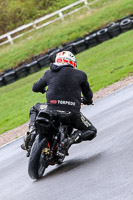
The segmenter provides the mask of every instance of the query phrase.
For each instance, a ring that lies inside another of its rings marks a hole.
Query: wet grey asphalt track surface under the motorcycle
[[[41,180],[28,176],[22,138],[0,149],[0,200],[133,199],[133,85],[82,112],[97,137],[73,145],[64,163],[48,167]]]

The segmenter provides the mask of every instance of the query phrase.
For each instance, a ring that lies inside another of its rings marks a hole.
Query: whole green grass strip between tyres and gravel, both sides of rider
[[[133,31],[123,33],[76,56],[78,68],[88,75],[93,92],[133,73]],[[32,85],[45,69],[0,88],[0,133],[29,119],[29,109],[44,102],[45,95],[32,92]]]

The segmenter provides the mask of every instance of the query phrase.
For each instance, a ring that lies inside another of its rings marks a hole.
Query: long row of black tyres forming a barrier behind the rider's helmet
[[[43,67],[47,67],[51,62],[55,61],[56,54],[60,51],[71,51],[73,54],[78,54],[132,29],[133,15],[130,15],[93,31],[84,37],[68,42],[60,48],[52,48],[41,56],[35,56],[33,58],[34,61],[29,64],[23,64],[16,69],[9,68],[2,72],[0,74],[0,87],[35,73]]]

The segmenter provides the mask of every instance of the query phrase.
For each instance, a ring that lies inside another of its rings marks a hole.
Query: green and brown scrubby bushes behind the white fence
[[[0,0],[0,35],[77,0]]]

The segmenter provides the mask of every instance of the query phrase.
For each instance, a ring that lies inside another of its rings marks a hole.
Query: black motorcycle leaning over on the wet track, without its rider
[[[85,104],[83,99],[81,102]],[[73,127],[63,125],[57,111],[45,109],[39,112],[35,126],[37,136],[30,152],[28,174],[32,179],[40,179],[49,165],[61,164],[65,159],[62,143],[70,137]]]

